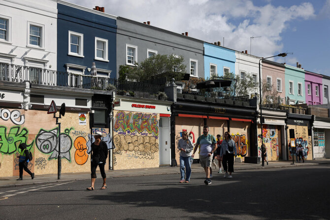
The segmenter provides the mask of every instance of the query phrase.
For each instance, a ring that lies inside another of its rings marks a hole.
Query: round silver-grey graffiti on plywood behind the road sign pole
[[[64,133],[61,133],[61,159],[66,158],[71,162],[70,150],[72,148],[72,139],[68,135],[70,129],[66,128]],[[57,159],[59,155],[59,128],[52,130],[40,129],[35,137],[35,146],[43,154],[51,154],[48,160]]]

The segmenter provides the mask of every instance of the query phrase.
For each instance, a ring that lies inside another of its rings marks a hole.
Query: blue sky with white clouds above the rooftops
[[[65,1],[330,76],[330,0]]]

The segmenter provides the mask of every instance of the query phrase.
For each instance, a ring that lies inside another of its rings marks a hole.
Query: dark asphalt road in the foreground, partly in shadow
[[[0,189],[2,220],[102,219],[330,219],[330,164],[242,170],[204,185],[194,173],[189,184],[178,175],[108,178],[105,190],[87,191],[90,181]]]

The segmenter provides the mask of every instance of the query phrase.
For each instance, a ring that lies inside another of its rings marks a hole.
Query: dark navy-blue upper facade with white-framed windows
[[[93,62],[98,78],[116,78],[115,16],[59,0],[57,27],[58,85],[90,82]]]

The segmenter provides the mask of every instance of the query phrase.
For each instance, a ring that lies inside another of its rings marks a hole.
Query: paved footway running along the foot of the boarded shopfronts
[[[256,169],[271,169],[271,168],[283,168],[283,167],[294,167],[294,166],[314,166],[314,165],[330,164],[330,159],[319,159],[319,160],[305,160],[304,163],[292,164],[292,161],[269,161],[269,164],[264,164],[264,167],[256,163],[244,163],[235,162],[234,170],[256,170]],[[214,172],[217,170],[213,169]],[[204,169],[199,163],[192,164],[192,173],[203,173]],[[179,166],[168,166],[162,165],[156,168],[142,168],[142,169],[126,169],[126,170],[108,170],[105,171],[107,179],[117,177],[132,177],[132,176],[148,176],[148,175],[162,175],[162,174],[179,174]],[[97,175],[100,178],[99,171]],[[0,177],[0,188],[8,187],[20,187],[27,185],[45,184],[45,183],[58,183],[66,181],[78,181],[78,180],[90,180],[91,173],[62,173],[60,180],[58,180],[58,174],[44,174],[35,175],[35,178],[31,180],[30,176],[23,176],[22,181],[16,181],[18,177]],[[180,179],[178,177],[178,179]]]

